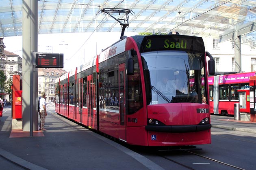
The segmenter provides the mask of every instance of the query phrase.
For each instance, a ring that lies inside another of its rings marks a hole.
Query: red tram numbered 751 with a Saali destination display
[[[122,38],[56,79],[55,111],[128,144],[209,144],[208,82],[202,79],[215,66],[209,56],[206,69],[206,55],[201,37]]]

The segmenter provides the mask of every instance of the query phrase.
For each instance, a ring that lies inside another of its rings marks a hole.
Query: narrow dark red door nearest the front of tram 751
[[[124,63],[119,65],[119,114],[120,114],[120,131],[119,138],[126,140],[126,114],[125,114],[125,70]]]

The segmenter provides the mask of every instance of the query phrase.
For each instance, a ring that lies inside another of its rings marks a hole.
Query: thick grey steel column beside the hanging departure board
[[[22,1],[22,130],[38,130],[38,72],[33,52],[38,45],[38,1]]]

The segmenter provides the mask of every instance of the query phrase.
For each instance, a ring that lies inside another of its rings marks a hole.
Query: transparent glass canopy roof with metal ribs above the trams
[[[120,32],[169,33],[230,40],[238,31],[244,42],[256,42],[256,0],[38,0],[38,33]],[[22,0],[1,0],[0,36],[22,35]],[[112,17],[111,17],[112,16]],[[121,20],[120,20],[121,19]],[[124,20],[122,20],[124,19]]]

